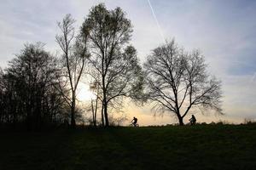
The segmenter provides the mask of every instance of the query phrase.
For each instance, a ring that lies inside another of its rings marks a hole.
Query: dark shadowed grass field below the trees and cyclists
[[[0,169],[255,169],[255,125],[0,133]]]

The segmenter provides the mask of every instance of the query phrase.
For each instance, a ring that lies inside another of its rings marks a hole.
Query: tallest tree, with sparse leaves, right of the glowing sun
[[[99,82],[102,113],[108,127],[108,107],[121,104],[123,97],[135,99],[141,78],[136,49],[127,45],[131,39],[131,21],[121,8],[108,10],[103,3],[90,9],[81,35],[89,37],[90,65]],[[141,76],[142,77],[142,76]]]

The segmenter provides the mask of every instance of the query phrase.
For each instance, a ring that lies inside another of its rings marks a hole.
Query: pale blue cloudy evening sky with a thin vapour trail
[[[187,50],[201,50],[208,71],[222,81],[225,115],[195,113],[199,122],[256,120],[253,0],[0,0],[0,66],[5,68],[24,43],[45,42],[51,53],[60,51],[55,42],[56,22],[72,14],[79,30],[90,8],[98,3],[125,10],[133,26],[131,43],[142,62],[152,49],[173,37]],[[142,125],[175,122],[168,114],[154,117],[149,105],[125,105],[128,116],[137,116]]]

